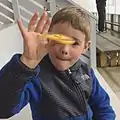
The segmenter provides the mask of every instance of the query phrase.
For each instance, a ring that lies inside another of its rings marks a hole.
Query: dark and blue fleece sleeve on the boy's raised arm
[[[0,70],[0,118],[9,118],[30,100],[30,89],[34,89],[30,81],[40,72],[39,66],[29,69],[16,54]],[[32,90],[34,91],[34,90]]]

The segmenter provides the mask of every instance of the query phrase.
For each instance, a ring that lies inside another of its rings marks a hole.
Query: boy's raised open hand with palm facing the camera
[[[24,40],[24,51],[21,56],[21,61],[29,68],[35,68],[42,58],[47,54],[47,40],[40,37],[40,33],[47,33],[50,27],[51,20],[48,18],[47,12],[44,11],[40,20],[38,13],[35,13],[26,29],[21,20],[18,20],[18,26]],[[36,25],[36,26],[35,26]]]

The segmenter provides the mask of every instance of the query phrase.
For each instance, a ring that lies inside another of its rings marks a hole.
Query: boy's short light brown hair
[[[68,22],[74,29],[78,29],[85,34],[86,41],[90,40],[91,23],[90,16],[85,10],[75,6],[67,6],[58,12],[52,18],[50,30],[57,23]]]

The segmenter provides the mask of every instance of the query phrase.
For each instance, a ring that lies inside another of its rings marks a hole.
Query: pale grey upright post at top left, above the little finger
[[[17,21],[20,18],[20,10],[18,5],[18,0],[12,0],[14,19]]]

